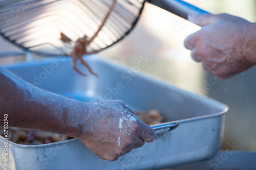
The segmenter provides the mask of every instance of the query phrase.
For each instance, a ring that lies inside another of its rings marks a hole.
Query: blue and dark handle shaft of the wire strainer
[[[184,19],[187,19],[189,15],[210,14],[181,0],[148,0],[148,2]]]

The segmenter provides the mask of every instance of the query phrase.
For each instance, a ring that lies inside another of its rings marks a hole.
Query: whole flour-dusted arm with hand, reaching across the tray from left
[[[34,87],[2,67],[0,81],[0,126],[8,114],[10,127],[78,138],[110,161],[154,140],[154,130],[122,101],[82,103]]]

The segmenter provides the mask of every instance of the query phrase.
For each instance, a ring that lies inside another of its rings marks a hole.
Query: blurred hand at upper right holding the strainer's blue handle
[[[230,78],[256,63],[256,27],[228,14],[201,14],[189,20],[202,27],[184,42],[191,57],[220,79]]]

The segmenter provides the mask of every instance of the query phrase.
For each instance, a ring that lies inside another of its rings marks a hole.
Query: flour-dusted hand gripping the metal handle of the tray
[[[155,138],[155,131],[122,101],[92,103],[87,117],[78,139],[104,160],[115,161]]]

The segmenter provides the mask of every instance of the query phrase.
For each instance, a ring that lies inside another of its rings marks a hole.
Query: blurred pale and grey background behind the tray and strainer
[[[256,21],[256,0],[186,0],[211,13],[229,13]],[[140,56],[152,60],[143,72],[169,81],[184,90],[208,96],[230,107],[225,120],[222,149],[235,143],[240,150],[256,151],[256,68],[229,80],[208,82],[213,75],[201,63],[190,58],[183,41],[200,27],[151,4],[146,4],[132,33],[116,45],[100,53],[102,57],[124,64],[137,65]],[[20,51],[0,38],[0,53]],[[0,59],[0,64],[24,60],[22,57]],[[207,90],[205,87],[207,86]]]

